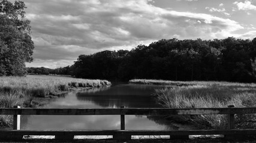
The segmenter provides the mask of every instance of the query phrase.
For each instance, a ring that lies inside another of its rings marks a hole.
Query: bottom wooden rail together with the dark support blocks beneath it
[[[0,130],[0,139],[22,139],[24,135],[53,135],[55,139],[74,139],[76,135],[112,135],[115,139],[131,139],[136,135],[168,135],[170,138],[189,135],[255,135],[256,129],[231,130]],[[184,138],[177,138],[184,139]]]

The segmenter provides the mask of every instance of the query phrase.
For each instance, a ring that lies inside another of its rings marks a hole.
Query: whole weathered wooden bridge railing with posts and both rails
[[[234,129],[234,114],[255,114],[256,107],[234,108],[0,108],[0,114],[13,115],[13,130],[0,130],[2,139],[21,139],[23,135],[55,135],[55,139],[73,139],[75,135],[113,135],[131,139],[132,135],[170,135],[188,139],[189,135],[225,135],[227,138],[256,135],[256,129]],[[227,114],[224,130],[125,130],[125,115],[197,115]],[[121,115],[121,130],[20,130],[20,115]]]

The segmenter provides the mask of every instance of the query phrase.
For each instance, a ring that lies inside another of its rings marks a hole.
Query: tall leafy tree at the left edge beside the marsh
[[[34,42],[24,2],[0,0],[0,76],[23,76],[33,60]]]

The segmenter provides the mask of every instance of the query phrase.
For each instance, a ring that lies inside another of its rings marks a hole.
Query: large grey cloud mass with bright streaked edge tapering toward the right
[[[167,10],[147,0],[24,1],[35,42],[34,63],[52,60],[68,66],[80,54],[131,49],[163,38],[226,38],[243,29],[228,18]]]

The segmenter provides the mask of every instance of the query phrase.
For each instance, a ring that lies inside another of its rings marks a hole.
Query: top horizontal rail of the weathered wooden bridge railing
[[[9,115],[186,115],[255,114],[251,108],[0,108]]]

